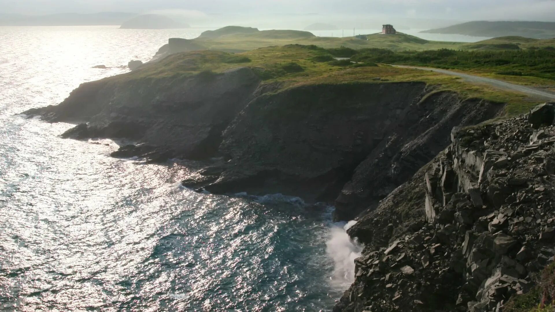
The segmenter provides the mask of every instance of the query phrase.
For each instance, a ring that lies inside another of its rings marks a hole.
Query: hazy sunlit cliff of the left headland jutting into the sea
[[[209,158],[221,133],[249,103],[260,79],[249,68],[176,79],[102,79],[84,83],[57,106],[32,109],[50,122],[82,123],[74,138],[122,138],[166,150],[167,157]],[[85,124],[83,124],[85,123]],[[136,155],[143,155],[137,149]],[[129,153],[128,153],[129,154]]]

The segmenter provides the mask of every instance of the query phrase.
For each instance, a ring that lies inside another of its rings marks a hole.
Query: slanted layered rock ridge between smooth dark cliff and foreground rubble
[[[450,143],[447,134],[453,127],[483,122],[501,108],[478,99],[461,100],[452,92],[428,94],[403,107],[397,118],[380,125],[385,130],[376,133],[380,143],[342,189],[336,200],[339,219],[354,219],[361,211],[375,208]]]

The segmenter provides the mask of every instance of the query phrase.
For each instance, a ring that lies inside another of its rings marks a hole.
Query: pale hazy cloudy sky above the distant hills
[[[203,14],[316,13],[456,20],[555,21],[555,0],[0,0],[0,13],[147,13],[186,10]]]

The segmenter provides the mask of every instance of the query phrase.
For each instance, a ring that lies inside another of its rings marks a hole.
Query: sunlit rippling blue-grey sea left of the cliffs
[[[328,311],[349,287],[332,207],[195,193],[186,162],[19,115],[204,30],[0,27],[0,311]]]

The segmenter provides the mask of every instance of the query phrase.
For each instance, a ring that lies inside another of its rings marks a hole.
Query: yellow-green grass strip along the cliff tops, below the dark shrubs
[[[422,81],[428,85],[435,85],[437,90],[458,92],[464,98],[483,98],[508,103],[509,115],[526,112],[533,105],[542,102],[516,92],[468,84],[453,76],[417,69],[377,66],[371,62],[353,64],[349,61],[331,61],[332,59],[332,54],[327,49],[300,45],[265,47],[237,54],[221,51],[183,52],[158,63],[148,64],[132,73],[107,79],[156,79],[199,73],[210,76],[231,68],[246,66],[253,68],[265,83],[281,83],[281,89],[321,83]]]

